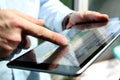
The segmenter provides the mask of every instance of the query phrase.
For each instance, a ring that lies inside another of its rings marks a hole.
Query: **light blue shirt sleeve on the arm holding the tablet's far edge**
[[[40,7],[39,19],[44,19],[45,25],[49,29],[55,32],[61,32],[64,17],[72,12],[71,9],[59,0],[45,0]]]

